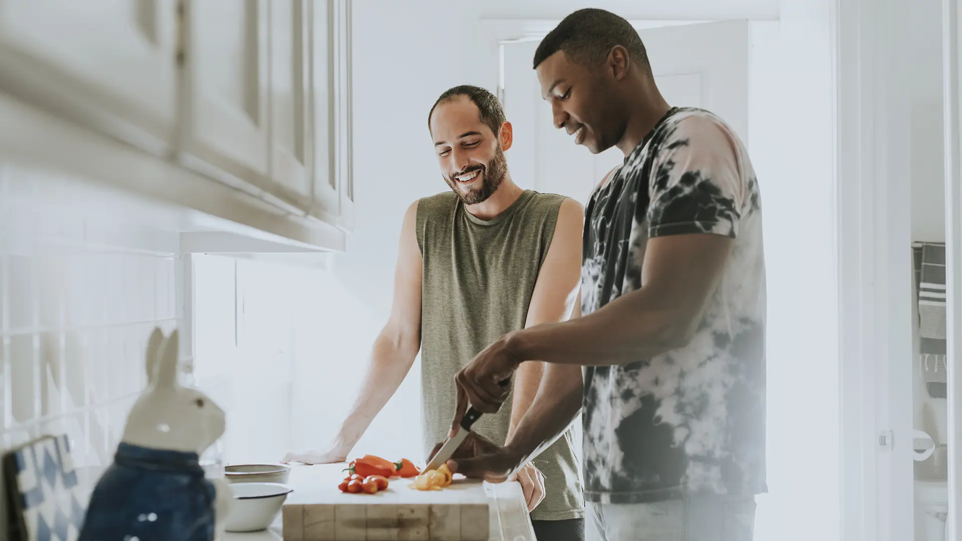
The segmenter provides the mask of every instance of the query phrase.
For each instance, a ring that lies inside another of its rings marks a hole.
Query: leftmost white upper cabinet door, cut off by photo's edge
[[[176,15],[175,0],[0,0],[0,90],[164,152]]]

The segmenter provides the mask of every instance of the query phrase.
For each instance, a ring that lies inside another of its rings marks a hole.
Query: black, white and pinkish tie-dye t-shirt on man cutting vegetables
[[[745,146],[718,116],[671,109],[595,189],[585,213],[585,315],[642,287],[647,239],[734,240],[687,346],[586,369],[585,499],[766,492],[765,260]]]

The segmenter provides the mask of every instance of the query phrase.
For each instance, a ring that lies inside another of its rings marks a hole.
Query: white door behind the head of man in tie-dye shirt
[[[655,82],[672,106],[701,107],[748,141],[748,22],[724,21],[639,30]],[[585,203],[595,184],[624,156],[617,147],[593,155],[554,127],[531,68],[538,41],[504,45],[503,100],[515,128],[505,153],[522,188],[560,193]]]

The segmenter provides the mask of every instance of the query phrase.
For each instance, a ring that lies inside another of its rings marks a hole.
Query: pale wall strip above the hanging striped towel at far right
[[[912,42],[912,240],[945,242],[942,134],[942,2],[915,0]]]

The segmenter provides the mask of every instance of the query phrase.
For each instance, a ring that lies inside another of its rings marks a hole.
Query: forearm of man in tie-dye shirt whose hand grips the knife
[[[653,304],[642,289],[621,296],[590,316],[512,333],[507,337],[508,348],[521,360],[612,366],[680,347],[688,329],[675,323],[671,307]]]

